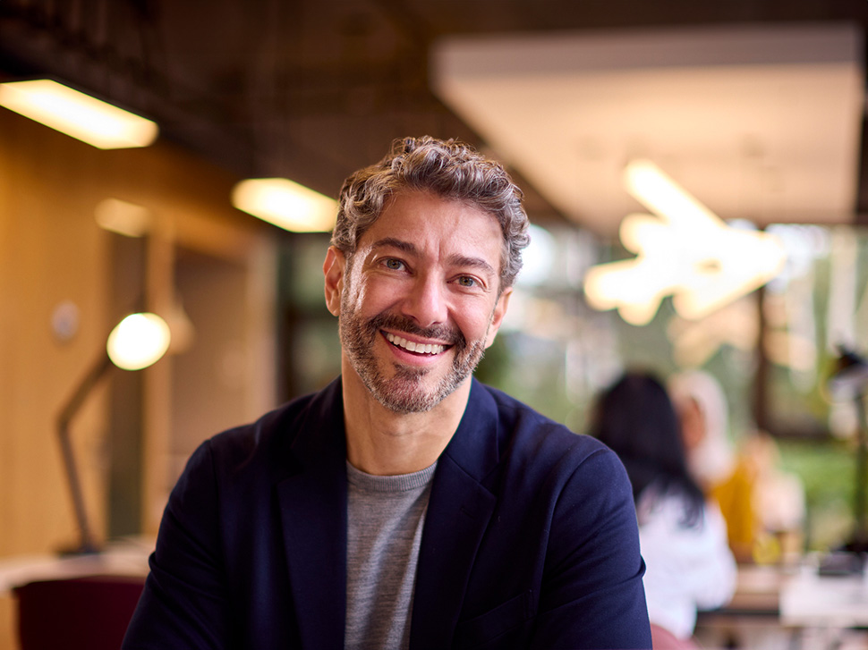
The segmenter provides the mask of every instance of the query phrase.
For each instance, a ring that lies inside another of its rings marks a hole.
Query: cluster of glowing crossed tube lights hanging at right
[[[621,242],[636,257],[585,274],[592,308],[617,308],[628,323],[645,325],[671,295],[681,317],[697,320],[783,268],[786,256],[776,237],[726,224],[650,161],[627,165],[624,180],[654,215],[627,215],[621,222]]]

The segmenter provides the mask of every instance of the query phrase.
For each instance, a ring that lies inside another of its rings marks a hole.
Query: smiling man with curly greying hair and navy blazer
[[[323,265],[342,374],[193,454],[124,648],[651,647],[623,467],[472,378],[521,201],[428,137],[345,181]]]

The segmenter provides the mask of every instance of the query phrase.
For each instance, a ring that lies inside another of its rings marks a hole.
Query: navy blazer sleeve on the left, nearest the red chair
[[[193,453],[169,497],[123,650],[229,646],[217,483],[209,445],[203,443]]]

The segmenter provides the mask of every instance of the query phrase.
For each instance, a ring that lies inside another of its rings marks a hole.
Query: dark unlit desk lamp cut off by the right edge
[[[868,487],[868,424],[865,420],[865,393],[868,391],[868,361],[844,346],[838,346],[838,363],[829,378],[829,391],[838,399],[854,401],[858,414],[856,432],[855,531],[847,551],[868,552],[868,521],[865,519],[865,490]]]

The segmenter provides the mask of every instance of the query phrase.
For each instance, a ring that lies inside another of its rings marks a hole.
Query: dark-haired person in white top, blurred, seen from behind
[[[625,373],[599,396],[591,428],[633,485],[654,648],[694,647],[696,612],[732,598],[736,561],[718,507],[687,469],[666,388],[652,374]]]

